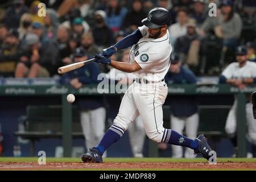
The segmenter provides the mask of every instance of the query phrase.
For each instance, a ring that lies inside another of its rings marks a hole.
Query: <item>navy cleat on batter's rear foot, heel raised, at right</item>
[[[196,138],[197,142],[199,143],[199,147],[194,150],[195,154],[200,154],[203,156],[203,158],[209,160],[210,156],[209,152],[212,151],[212,148],[207,143],[207,139],[204,137],[204,135],[199,135],[199,137]]]

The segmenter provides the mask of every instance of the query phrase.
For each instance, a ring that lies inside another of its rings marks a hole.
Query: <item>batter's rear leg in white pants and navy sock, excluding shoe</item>
[[[192,149],[198,147],[196,140],[189,139],[177,133],[175,130],[164,129],[162,105],[168,93],[166,84],[141,84],[136,89],[137,93],[140,92],[141,94],[135,93],[134,100],[141,114],[148,138],[157,143],[166,142]]]

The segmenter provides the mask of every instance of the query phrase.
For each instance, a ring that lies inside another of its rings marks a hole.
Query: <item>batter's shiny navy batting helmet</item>
[[[148,13],[147,18],[143,19],[142,23],[144,26],[154,29],[168,24],[170,20],[171,13],[168,10],[163,7],[156,7]]]

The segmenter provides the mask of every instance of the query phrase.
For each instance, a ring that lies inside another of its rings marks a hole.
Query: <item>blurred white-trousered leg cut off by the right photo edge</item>
[[[247,127],[248,127],[248,133],[247,133],[247,139],[251,143],[251,152],[253,154],[253,157],[256,156],[256,122],[253,118],[253,104],[247,103],[246,104],[246,120],[247,120]]]

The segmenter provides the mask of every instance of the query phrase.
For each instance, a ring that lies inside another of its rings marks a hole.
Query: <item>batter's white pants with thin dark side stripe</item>
[[[164,81],[152,84],[134,82],[127,89],[114,124],[127,130],[139,115],[148,138],[161,142],[164,134],[162,105],[168,93]]]

